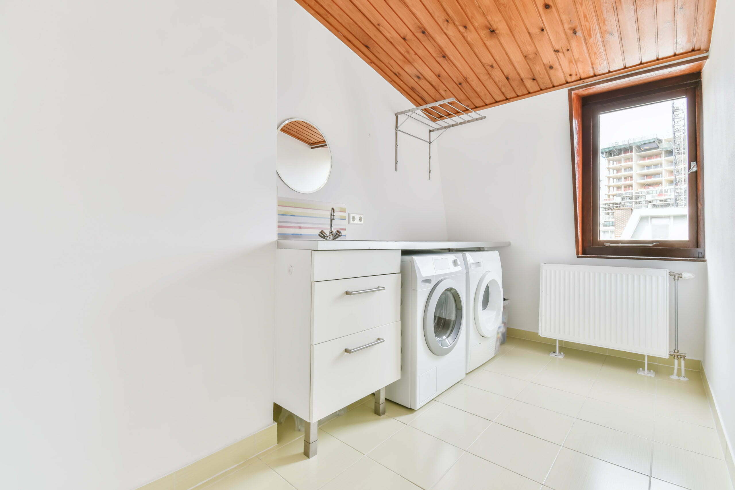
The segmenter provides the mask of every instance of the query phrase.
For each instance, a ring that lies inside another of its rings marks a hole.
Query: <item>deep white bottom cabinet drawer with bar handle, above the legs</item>
[[[354,353],[362,345],[383,342]],[[401,322],[312,345],[312,421],[401,378]]]

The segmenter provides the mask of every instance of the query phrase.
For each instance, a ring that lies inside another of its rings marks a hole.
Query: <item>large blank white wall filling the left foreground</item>
[[[276,5],[2,10],[2,486],[133,489],[270,424]]]

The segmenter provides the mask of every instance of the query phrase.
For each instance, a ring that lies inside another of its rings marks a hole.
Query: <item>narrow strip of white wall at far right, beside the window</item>
[[[735,3],[717,2],[703,71],[704,185],[709,266],[705,372],[735,442]]]

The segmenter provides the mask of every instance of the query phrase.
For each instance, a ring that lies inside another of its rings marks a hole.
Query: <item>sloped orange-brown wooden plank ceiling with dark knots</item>
[[[417,106],[484,109],[696,56],[715,0],[296,0]]]

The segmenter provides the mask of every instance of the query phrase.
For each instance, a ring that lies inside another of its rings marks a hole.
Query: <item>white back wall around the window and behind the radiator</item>
[[[679,340],[689,357],[702,359],[706,264],[576,258],[568,105],[567,91],[557,90],[486,109],[487,119],[442,136],[449,239],[512,242],[501,249],[509,325],[531,331],[538,329],[542,262],[695,273],[679,288]]]

